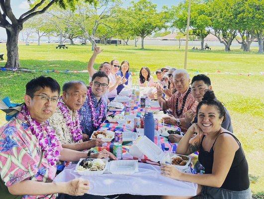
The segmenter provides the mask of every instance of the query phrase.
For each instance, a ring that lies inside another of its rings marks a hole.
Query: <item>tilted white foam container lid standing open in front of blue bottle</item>
[[[158,162],[163,157],[162,149],[152,142],[147,136],[143,136],[138,142],[133,144],[129,150],[129,153],[138,158],[142,158],[146,155],[151,161]]]

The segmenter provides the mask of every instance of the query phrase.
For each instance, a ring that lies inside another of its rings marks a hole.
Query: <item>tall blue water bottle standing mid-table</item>
[[[154,142],[155,123],[153,112],[146,112],[144,117],[144,135]]]

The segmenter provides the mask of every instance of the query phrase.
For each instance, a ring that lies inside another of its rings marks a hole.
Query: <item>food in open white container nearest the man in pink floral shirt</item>
[[[78,171],[102,171],[105,167],[105,163],[102,159],[86,158],[81,161]]]

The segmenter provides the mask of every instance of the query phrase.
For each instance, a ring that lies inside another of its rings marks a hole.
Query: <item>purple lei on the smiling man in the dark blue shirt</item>
[[[96,110],[92,104],[92,100],[91,100],[91,88],[88,87],[88,91],[87,91],[87,97],[88,97],[88,104],[91,108],[91,119],[92,119],[92,125],[97,128],[100,126],[100,124],[102,123],[102,118],[103,118],[103,115],[104,115],[104,108],[105,108],[105,105],[104,103],[101,103],[100,105],[100,111],[99,111],[99,114],[96,113]]]

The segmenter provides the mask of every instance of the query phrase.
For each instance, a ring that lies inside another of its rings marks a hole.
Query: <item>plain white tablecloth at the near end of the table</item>
[[[97,196],[131,194],[158,196],[195,196],[197,184],[176,181],[160,174],[160,167],[139,163],[139,172],[131,176],[103,174],[100,176],[81,176],[74,172],[75,165],[66,167],[54,182],[68,182],[75,178],[90,182],[89,194]]]

